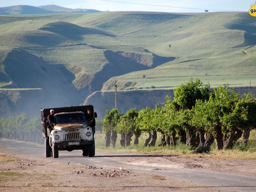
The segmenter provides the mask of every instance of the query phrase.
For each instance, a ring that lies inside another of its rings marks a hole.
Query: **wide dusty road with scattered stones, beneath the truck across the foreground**
[[[19,158],[0,162],[0,191],[256,192],[256,160],[97,150],[93,158],[76,150],[53,159],[44,157],[43,145],[9,140],[0,140],[0,153]],[[16,175],[3,175],[8,172]]]

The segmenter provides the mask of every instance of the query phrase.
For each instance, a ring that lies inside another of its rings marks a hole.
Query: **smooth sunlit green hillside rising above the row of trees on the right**
[[[111,84],[116,80],[121,90],[150,87],[169,89],[191,77],[200,77],[204,83],[212,86],[223,83],[233,87],[248,86],[250,81],[253,86],[256,85],[256,65],[253,63],[256,59],[256,25],[252,17],[246,13],[193,14],[183,17],[186,17],[187,25],[181,25],[184,18],[180,18],[177,21],[174,19],[172,26],[168,23],[165,23],[165,27],[159,24],[161,32],[150,28],[124,35],[124,38],[129,39],[131,35],[143,33],[146,36],[150,33],[154,38],[147,41],[139,39],[134,41],[134,45],[143,46],[154,53],[172,55],[175,60],[147,71],[114,77],[104,84],[102,90],[113,89]],[[133,86],[127,86],[127,82]]]

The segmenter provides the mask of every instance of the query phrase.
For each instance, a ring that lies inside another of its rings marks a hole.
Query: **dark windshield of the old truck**
[[[63,114],[63,115],[55,116],[55,122],[56,122],[56,124],[78,123],[78,122],[85,122],[85,118],[82,113]]]

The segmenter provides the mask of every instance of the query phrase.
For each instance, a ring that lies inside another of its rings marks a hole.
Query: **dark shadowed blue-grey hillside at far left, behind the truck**
[[[41,107],[82,103],[82,94],[72,84],[74,77],[64,67],[52,67],[41,58],[19,49],[6,50],[6,55],[0,60],[3,60],[1,117],[22,111],[37,116]]]

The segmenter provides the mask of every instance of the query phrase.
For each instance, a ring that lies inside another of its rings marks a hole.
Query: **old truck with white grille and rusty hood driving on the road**
[[[54,125],[47,121],[51,109],[55,110]],[[82,156],[94,157],[95,128],[88,123],[90,119],[87,117],[87,109],[91,109],[93,118],[97,117],[92,105],[41,108],[42,135],[45,138],[46,158],[58,158],[60,150],[82,150]]]

